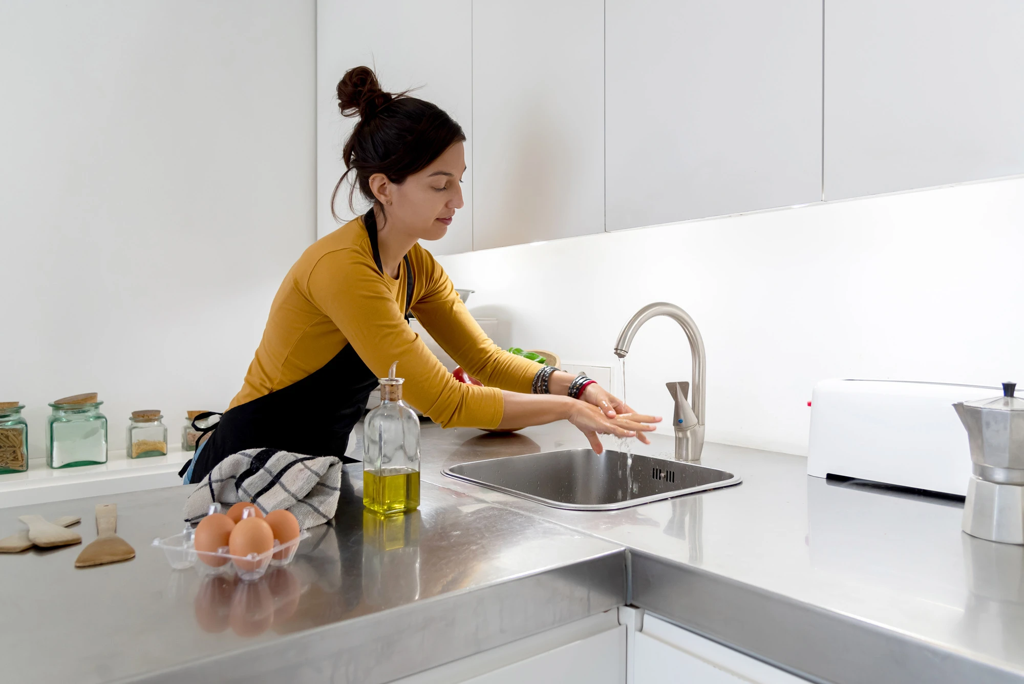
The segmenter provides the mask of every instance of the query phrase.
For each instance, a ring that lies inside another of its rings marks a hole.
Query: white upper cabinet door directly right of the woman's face
[[[474,0],[473,248],[604,229],[602,0]]]

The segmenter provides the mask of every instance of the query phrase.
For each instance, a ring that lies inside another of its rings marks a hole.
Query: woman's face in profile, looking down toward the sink
[[[384,201],[387,223],[394,221],[395,226],[409,230],[418,240],[443,238],[455,211],[464,204],[461,183],[465,171],[465,149],[461,142],[456,142],[400,185],[386,181],[380,183],[379,191],[374,187],[378,199]],[[391,204],[387,204],[387,200]]]

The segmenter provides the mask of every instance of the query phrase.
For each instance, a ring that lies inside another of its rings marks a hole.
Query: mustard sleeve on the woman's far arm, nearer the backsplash
[[[528,394],[542,367],[495,344],[470,315],[441,265],[426,250],[422,254],[425,291],[413,306],[416,319],[466,373],[484,385]]]

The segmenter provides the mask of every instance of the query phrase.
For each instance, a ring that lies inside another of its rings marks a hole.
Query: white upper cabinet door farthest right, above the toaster
[[[825,0],[825,199],[1024,173],[1024,2]]]

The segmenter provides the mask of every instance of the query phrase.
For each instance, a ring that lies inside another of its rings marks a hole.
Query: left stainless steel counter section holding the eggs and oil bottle
[[[116,503],[136,557],[76,569],[81,545],[0,554],[0,679],[387,682],[626,600],[621,545],[429,482],[419,511],[365,519],[358,467],[287,570],[203,580],[150,546],[181,530],[191,488],[4,511],[0,537],[26,513],[79,515],[88,544],[94,505]]]

